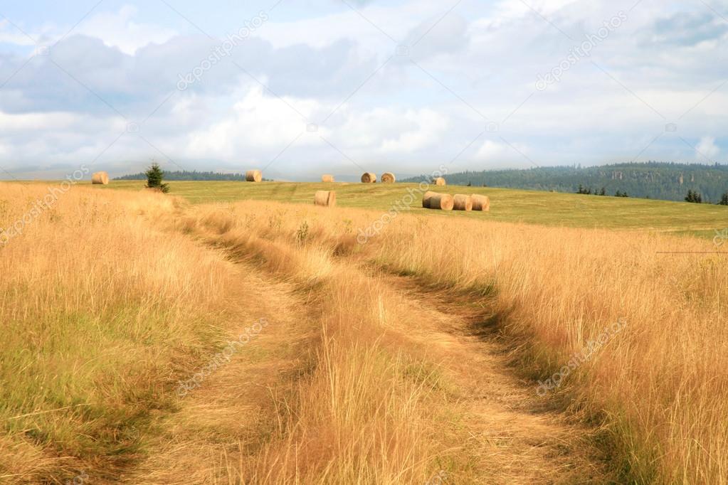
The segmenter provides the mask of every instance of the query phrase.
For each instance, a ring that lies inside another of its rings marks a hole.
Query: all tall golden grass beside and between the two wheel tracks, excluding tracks
[[[1,188],[3,226],[42,190]],[[274,394],[272,433],[223,467],[231,481],[422,483],[443,460],[477,478],[457,446],[467,430],[451,434],[453,396],[437,372],[412,371],[433,364],[402,335],[416,317],[365,277],[373,264],[493,305],[536,379],[624,318],[545,399],[601,427],[625,479],[727,483],[728,262],[697,254],[708,241],[399,215],[357,244],[379,217],[66,194],[0,249],[0,479],[52,481],[90,463],[111,475],[141,452],[131,428],[178,405],[175,357],[194,360],[215,340],[240,278],[191,235],[293,282],[309,294],[301,312],[320,322],[309,367]],[[677,250],[696,254],[657,254]]]

